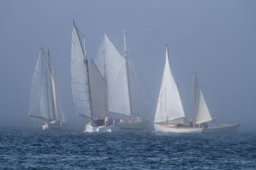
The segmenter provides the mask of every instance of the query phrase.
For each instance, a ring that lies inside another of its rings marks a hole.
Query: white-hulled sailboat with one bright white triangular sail
[[[201,133],[202,128],[186,127],[179,89],[173,78],[168,59],[168,45],[166,46],[166,61],[163,79],[159,93],[154,127],[156,132],[171,133]]]

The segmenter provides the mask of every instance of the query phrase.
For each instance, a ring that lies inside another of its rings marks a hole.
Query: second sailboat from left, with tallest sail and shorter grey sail
[[[83,36],[84,40],[84,36]],[[89,77],[88,58],[86,56],[76,24],[73,20],[71,47],[71,82],[77,114],[89,121],[84,132],[117,132],[119,127],[109,125],[106,107],[106,81],[92,61]],[[94,83],[94,84],[93,84]],[[95,85],[94,91],[91,86]],[[97,120],[95,120],[97,119]],[[105,120],[104,120],[105,119]]]

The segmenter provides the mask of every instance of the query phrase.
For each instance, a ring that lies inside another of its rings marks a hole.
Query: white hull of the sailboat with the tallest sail
[[[85,126],[84,132],[89,132],[89,133],[97,133],[97,132],[118,132],[120,128],[115,125],[109,125],[107,126],[99,126],[99,127],[94,127],[92,126],[92,123],[88,123]]]

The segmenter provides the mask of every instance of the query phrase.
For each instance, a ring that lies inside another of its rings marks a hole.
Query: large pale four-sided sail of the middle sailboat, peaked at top
[[[108,108],[109,112],[131,115],[126,59],[105,34],[94,61],[104,75],[104,57],[108,66]]]

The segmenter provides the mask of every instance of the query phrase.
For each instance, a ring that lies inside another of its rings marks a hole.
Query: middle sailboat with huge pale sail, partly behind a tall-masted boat
[[[125,40],[125,35],[124,35]],[[125,42],[125,41],[124,41]],[[104,49],[104,52],[103,50]],[[103,54],[104,53],[104,54]],[[131,86],[129,79],[129,63],[127,61],[127,51],[122,54],[115,47],[108,35],[104,35],[99,52],[95,57],[95,64],[102,75],[104,75],[104,63],[108,65],[106,75],[108,75],[108,108],[112,115],[121,116],[116,120],[120,128],[147,129],[149,119],[140,117],[140,113],[132,112]]]

